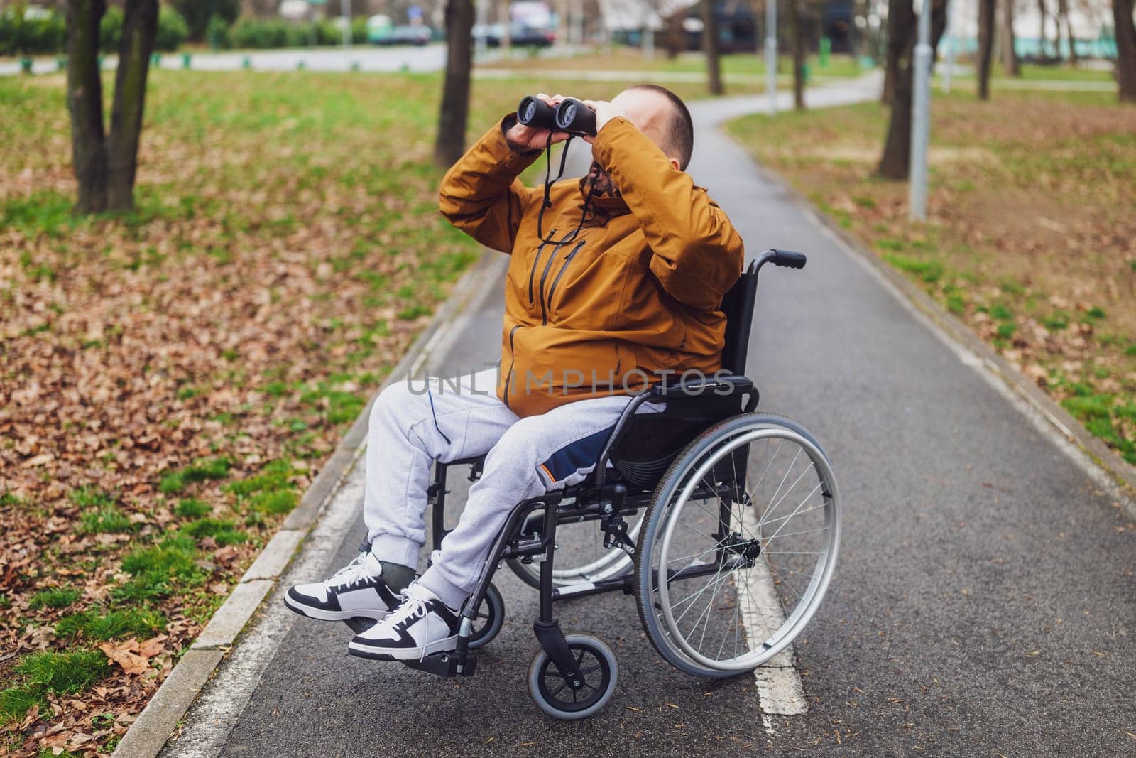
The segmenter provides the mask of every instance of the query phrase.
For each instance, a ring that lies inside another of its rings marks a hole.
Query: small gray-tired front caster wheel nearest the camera
[[[611,700],[619,666],[611,648],[588,634],[567,634],[565,640],[584,682],[573,689],[542,648],[528,667],[528,694],[553,718],[587,718]]]

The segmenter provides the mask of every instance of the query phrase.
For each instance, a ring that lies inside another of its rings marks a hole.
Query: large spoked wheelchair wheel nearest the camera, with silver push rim
[[[743,414],[696,438],[659,482],[635,561],[640,618],[670,664],[734,676],[785,650],[836,566],[840,493],[816,440]]]

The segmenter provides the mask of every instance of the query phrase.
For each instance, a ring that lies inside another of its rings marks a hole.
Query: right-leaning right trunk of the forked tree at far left
[[[157,31],[158,0],[126,0],[107,145],[107,210],[130,210],[134,207],[145,81]]]

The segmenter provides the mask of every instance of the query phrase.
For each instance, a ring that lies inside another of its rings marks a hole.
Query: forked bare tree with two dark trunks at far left
[[[124,5],[109,135],[103,128],[99,75],[99,23],[106,9],[103,0],[67,2],[67,109],[72,122],[72,159],[78,182],[76,215],[134,207],[145,83],[158,28],[158,0],[126,0]]]

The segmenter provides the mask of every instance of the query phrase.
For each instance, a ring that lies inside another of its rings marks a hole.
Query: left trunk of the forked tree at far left
[[[67,2],[67,109],[72,122],[72,161],[78,181],[75,214],[107,207],[107,148],[99,77],[99,22],[103,0]]]

